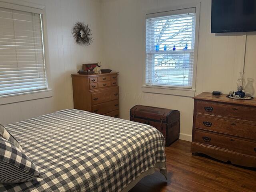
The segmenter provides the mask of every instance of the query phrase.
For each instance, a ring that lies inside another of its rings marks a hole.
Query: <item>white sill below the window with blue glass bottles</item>
[[[194,89],[187,89],[187,88],[161,87],[161,86],[148,86],[148,85],[142,86],[142,92],[175,95],[175,96],[182,96],[182,97],[194,97],[195,91],[196,90]]]

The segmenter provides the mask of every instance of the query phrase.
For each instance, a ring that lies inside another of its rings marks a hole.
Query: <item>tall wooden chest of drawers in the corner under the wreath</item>
[[[119,118],[118,73],[72,74],[74,108]]]

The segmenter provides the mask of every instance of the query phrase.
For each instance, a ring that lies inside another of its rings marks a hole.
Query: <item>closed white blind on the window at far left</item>
[[[46,88],[41,14],[0,8],[0,95]]]

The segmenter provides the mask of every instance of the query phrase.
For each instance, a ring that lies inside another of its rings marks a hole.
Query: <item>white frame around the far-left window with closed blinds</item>
[[[43,90],[30,90],[28,92],[2,95],[0,96],[0,105],[52,97],[45,6],[30,2],[22,2],[19,0],[0,0],[0,7],[41,14],[44,46],[44,65],[47,83],[47,88]]]

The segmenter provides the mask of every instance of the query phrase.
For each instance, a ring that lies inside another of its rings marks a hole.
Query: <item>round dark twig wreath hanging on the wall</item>
[[[73,27],[73,37],[80,46],[92,44],[92,30],[88,24],[76,22]]]

